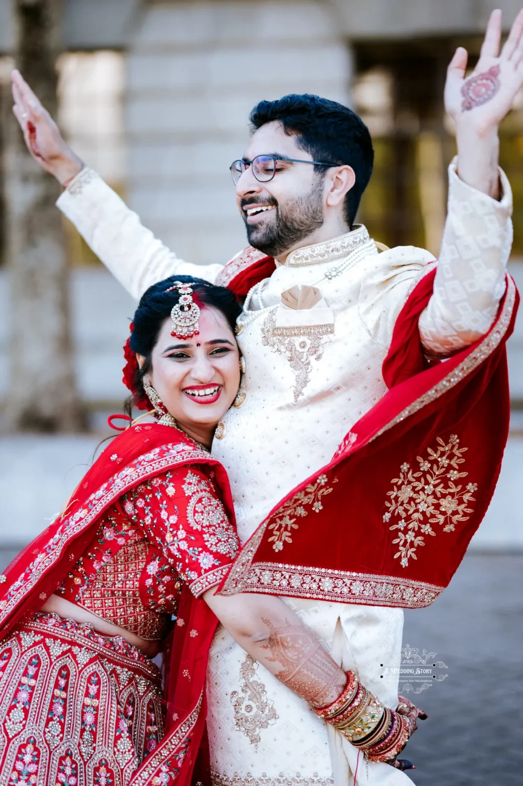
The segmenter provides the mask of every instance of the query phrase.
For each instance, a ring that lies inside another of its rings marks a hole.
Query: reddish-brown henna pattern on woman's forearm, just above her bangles
[[[267,660],[283,667],[274,676],[313,707],[325,707],[335,700],[347,678],[315,634],[286,619],[281,628],[274,628],[268,619],[263,622],[270,630],[267,645],[263,645],[271,652]]]

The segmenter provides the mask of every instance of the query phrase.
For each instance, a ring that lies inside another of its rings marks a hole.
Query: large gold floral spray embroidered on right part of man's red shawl
[[[447,444],[440,437],[437,443],[436,451],[427,449],[428,458],[416,457],[419,472],[413,472],[407,462],[402,464],[400,477],[391,480],[394,488],[387,492],[391,501],[385,502],[389,510],[384,513],[383,520],[386,523],[391,516],[400,518],[399,523],[392,524],[389,529],[398,530],[399,537],[392,543],[399,544],[400,550],[394,559],[401,557],[402,567],[407,567],[411,557],[418,559],[416,549],[425,545],[424,535],[436,536],[431,524],[445,524],[444,532],[454,532],[456,523],[470,519],[463,514],[474,512],[467,505],[475,501],[472,495],[477,490],[477,483],[467,483],[465,488],[462,483],[455,483],[469,474],[459,472],[459,465],[465,462],[462,454],[468,448],[459,447],[455,434],[450,435]],[[418,534],[418,529],[423,534]]]

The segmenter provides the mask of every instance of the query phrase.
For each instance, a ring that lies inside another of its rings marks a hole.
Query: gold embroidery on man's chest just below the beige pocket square
[[[297,402],[311,379],[311,358],[322,358],[322,338],[334,332],[334,325],[276,327],[275,323],[276,312],[272,310],[262,325],[262,344],[287,356],[296,376],[294,401]]]

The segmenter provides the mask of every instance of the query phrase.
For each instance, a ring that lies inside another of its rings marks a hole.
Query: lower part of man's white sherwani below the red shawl
[[[344,670],[396,707],[403,611],[284,598]],[[208,665],[213,786],[406,786],[405,773],[366,762],[220,626]],[[354,780],[354,776],[357,774]]]

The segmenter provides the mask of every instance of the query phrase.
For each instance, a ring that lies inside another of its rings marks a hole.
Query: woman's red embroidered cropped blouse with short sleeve
[[[204,473],[169,470],[123,494],[101,516],[57,594],[142,639],[163,639],[182,583],[195,596],[215,586],[238,546]]]

